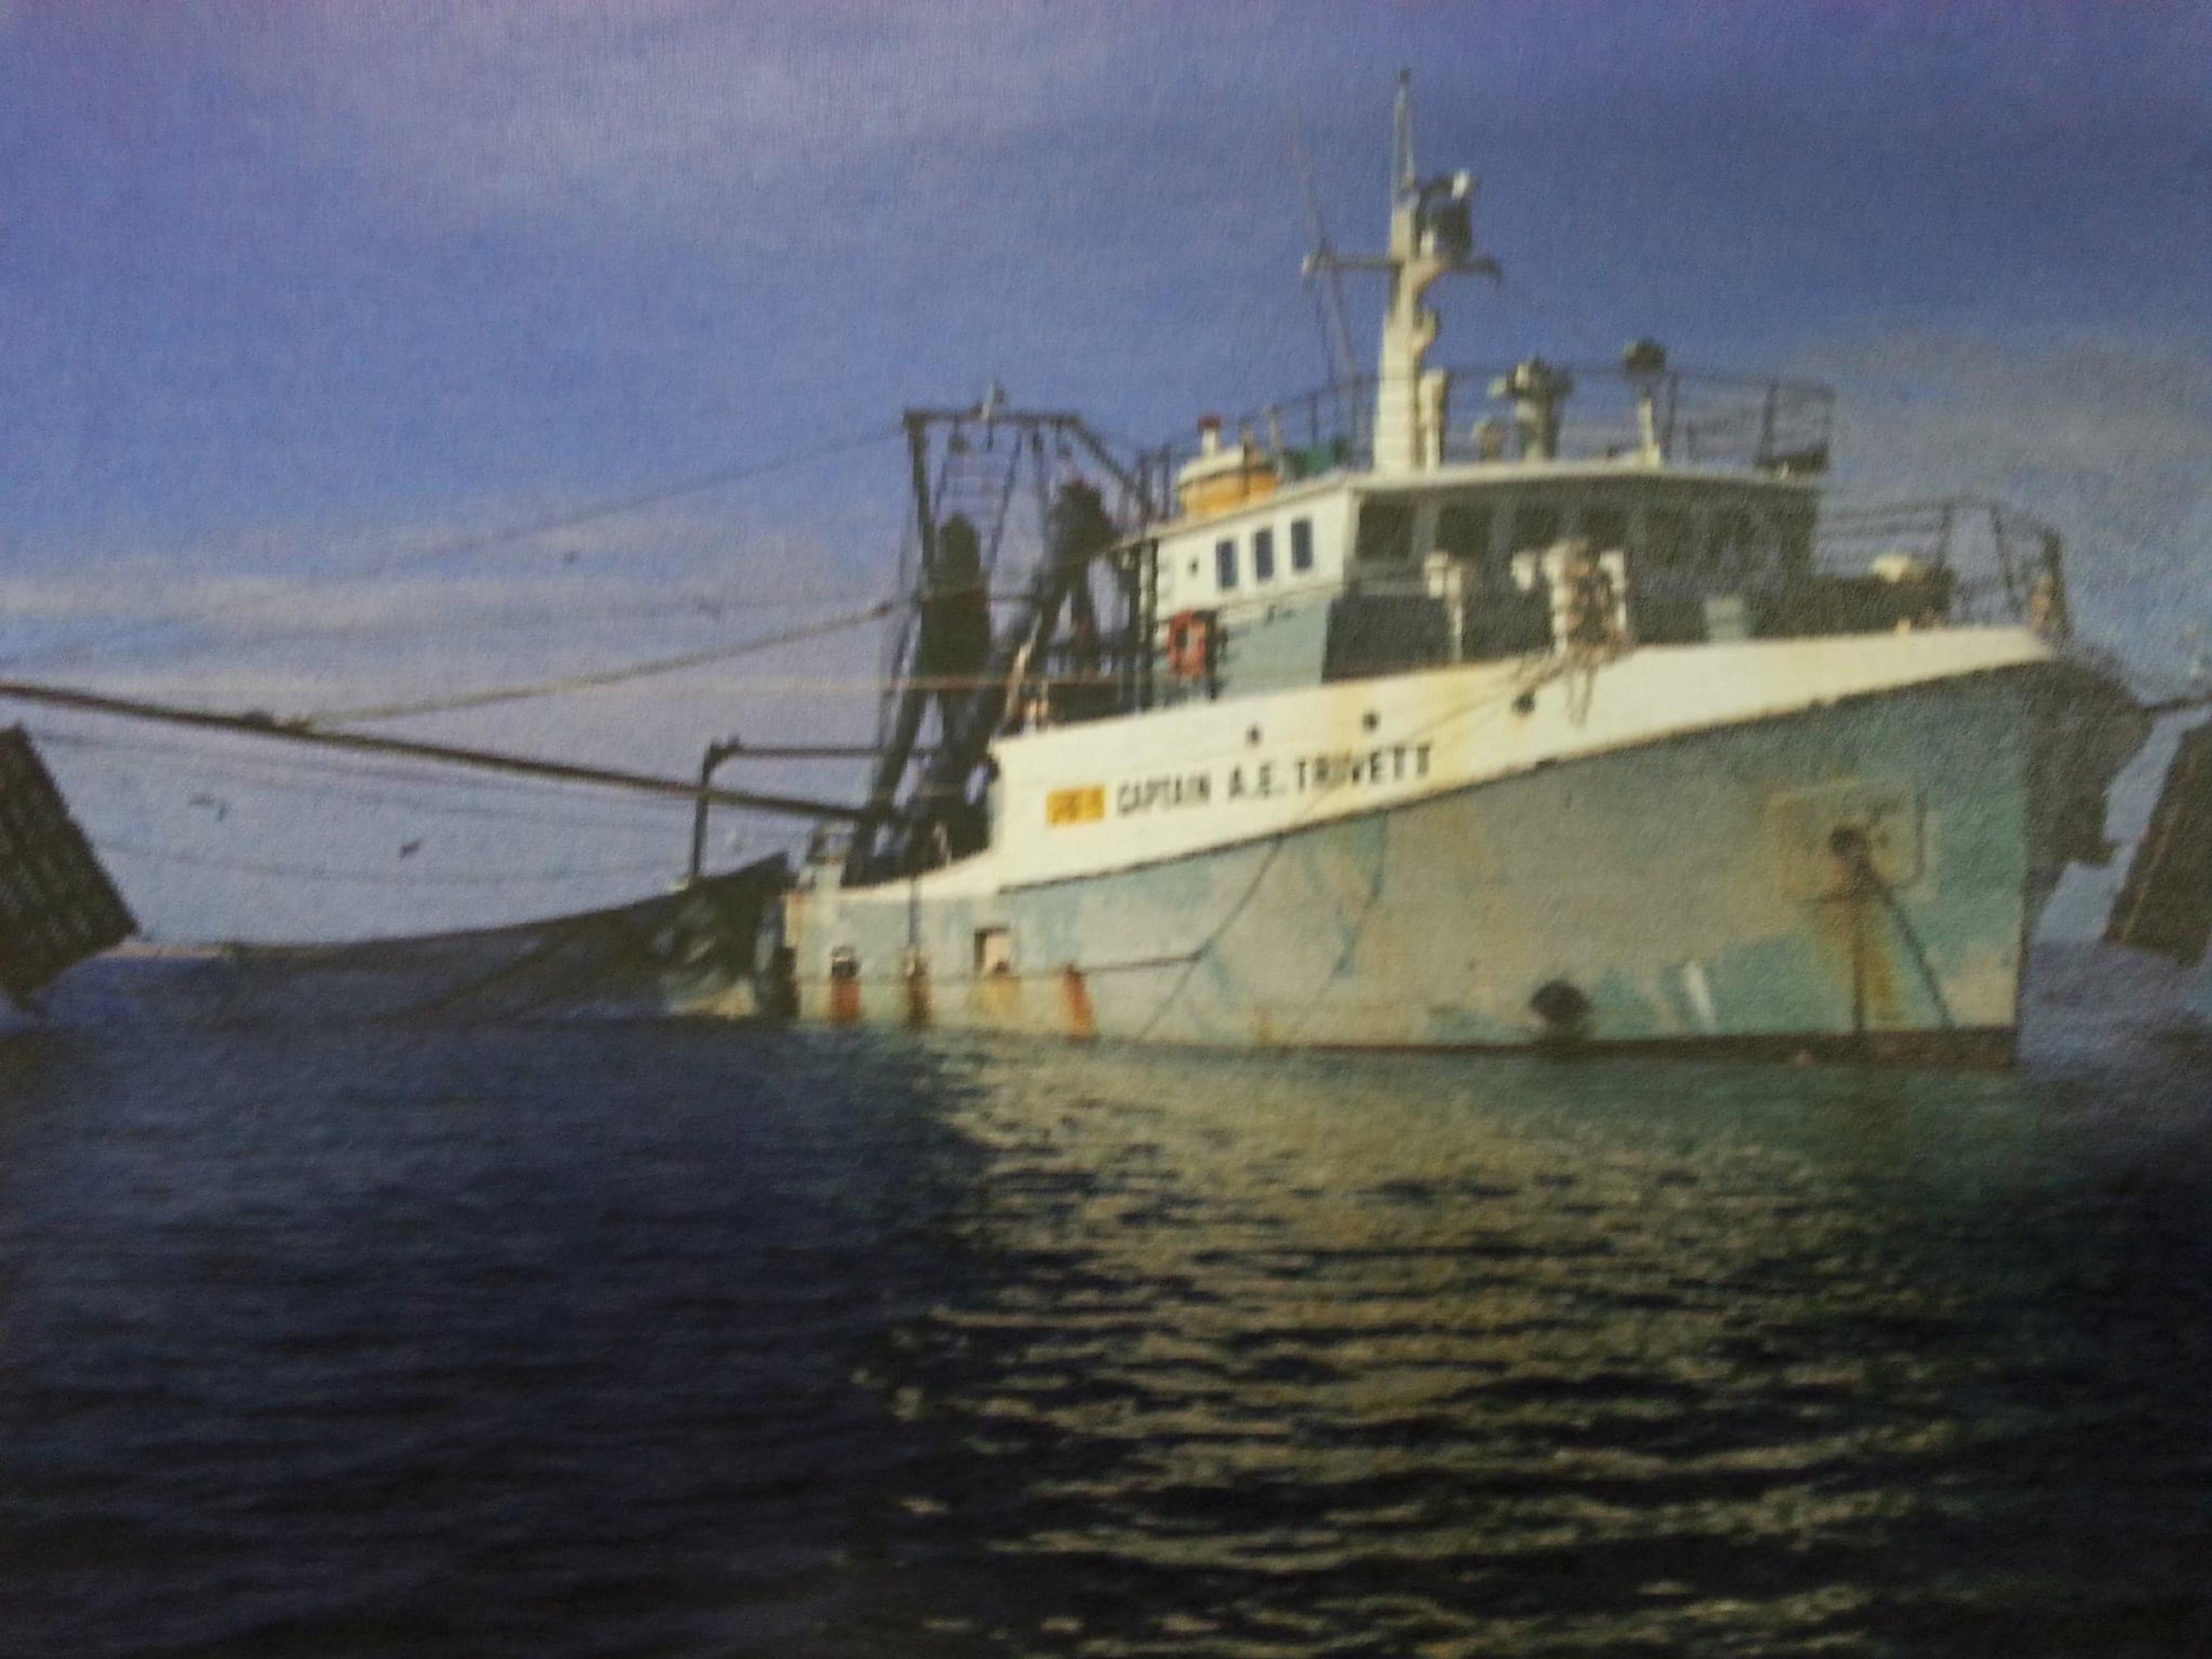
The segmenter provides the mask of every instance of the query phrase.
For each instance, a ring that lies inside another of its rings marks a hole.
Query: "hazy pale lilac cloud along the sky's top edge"
[[[394,204],[774,241],[783,212],[852,210],[779,192],[854,170],[927,184],[931,157],[1126,106],[1126,60],[1164,29],[1192,22],[1015,0],[321,0],[252,62],[312,86]]]

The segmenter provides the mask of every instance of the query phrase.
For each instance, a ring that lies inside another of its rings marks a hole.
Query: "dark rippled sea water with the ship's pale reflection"
[[[2212,1650],[2212,1066],[0,1037],[0,1652]],[[148,978],[150,975],[150,978]]]

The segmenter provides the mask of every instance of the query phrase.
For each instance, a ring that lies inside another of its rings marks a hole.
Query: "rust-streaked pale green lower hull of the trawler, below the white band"
[[[1000,891],[794,894],[787,995],[832,1024],[1210,1046],[2006,1064],[2066,825],[2117,765],[2095,752],[2112,710],[2053,695],[2070,672],[1679,732]]]

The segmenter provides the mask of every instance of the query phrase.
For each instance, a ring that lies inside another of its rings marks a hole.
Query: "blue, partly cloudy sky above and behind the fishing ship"
[[[1652,334],[1823,374],[1863,482],[2055,518],[2084,608],[2172,670],[2212,622],[2208,64],[2203,4],[0,0],[0,655],[330,708],[874,593],[887,445],[431,553],[993,376],[1137,436],[1312,385],[1290,122],[1336,239],[1374,241],[1411,66],[1422,159],[1482,173],[1509,272],[1447,301],[1442,356]],[[865,730],[865,699],[763,681],[872,659],[414,728],[677,770],[730,726]],[[53,754],[95,832],[201,860],[117,858],[173,938],[540,911],[681,843],[571,796],[263,790],[228,754],[215,818],[190,757]],[[221,867],[252,860],[380,876]],[[542,880],[465,880],[495,869]]]

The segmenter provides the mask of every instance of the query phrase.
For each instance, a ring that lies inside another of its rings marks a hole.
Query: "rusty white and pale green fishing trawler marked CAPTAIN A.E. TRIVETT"
[[[1219,1046],[2013,1055],[2026,945],[2148,721],[2059,538],[1823,504],[1832,394],[1431,365],[1495,276],[1400,86],[1380,363],[1190,451],[907,416],[874,785],[803,1020]],[[1026,458],[1026,460],[1024,460]],[[1040,553],[1004,586],[1022,465]],[[922,739],[929,737],[925,743]]]

